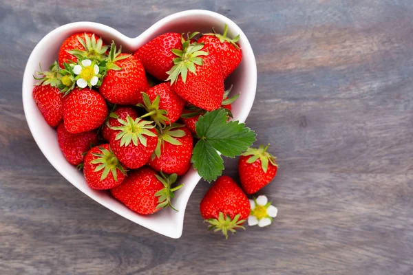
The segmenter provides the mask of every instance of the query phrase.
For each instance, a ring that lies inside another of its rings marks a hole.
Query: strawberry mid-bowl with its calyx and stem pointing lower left
[[[172,124],[180,118],[182,109],[184,108],[184,100],[180,98],[171,89],[171,85],[168,83],[161,83],[146,93],[142,93],[143,104],[138,106],[147,110],[147,114],[157,124]]]

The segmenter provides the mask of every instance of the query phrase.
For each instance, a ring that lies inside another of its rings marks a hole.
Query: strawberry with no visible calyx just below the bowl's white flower
[[[70,133],[96,129],[106,117],[106,102],[97,91],[75,88],[63,98],[63,120]]]

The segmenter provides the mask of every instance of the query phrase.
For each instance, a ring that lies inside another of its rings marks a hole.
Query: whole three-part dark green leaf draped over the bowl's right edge
[[[255,142],[254,131],[244,123],[228,122],[228,114],[224,109],[200,116],[195,130],[200,140],[193,148],[191,162],[198,174],[207,181],[215,180],[224,169],[218,151],[226,157],[235,157]]]

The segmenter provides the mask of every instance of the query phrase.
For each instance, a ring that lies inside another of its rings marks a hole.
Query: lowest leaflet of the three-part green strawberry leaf
[[[224,161],[209,142],[200,140],[193,148],[191,162],[193,168],[206,181],[213,181],[224,170]]]

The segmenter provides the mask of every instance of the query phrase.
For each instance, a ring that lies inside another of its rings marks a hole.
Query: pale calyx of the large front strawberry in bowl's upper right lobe
[[[201,51],[204,47],[203,43],[191,43],[191,39],[197,34],[198,32],[194,32],[189,35],[186,41],[182,36],[182,50],[172,50],[173,54],[178,57],[173,58],[174,66],[167,72],[167,74],[169,74],[167,81],[171,80],[171,85],[178,81],[179,76],[182,77],[182,81],[185,83],[188,71],[196,74],[195,65],[202,66],[203,61],[200,56],[208,55],[208,52]]]

